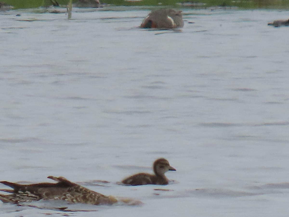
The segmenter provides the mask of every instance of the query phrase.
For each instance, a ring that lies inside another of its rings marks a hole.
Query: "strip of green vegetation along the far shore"
[[[14,9],[19,8],[38,8],[47,5],[52,5],[50,0],[0,0]],[[73,0],[76,2],[77,0]],[[124,5],[124,6],[140,6],[140,5],[171,5],[177,7],[178,2],[201,2],[205,3],[206,7],[210,6],[237,6],[240,8],[276,8],[276,9],[289,9],[289,0],[143,0],[143,1],[125,1],[125,0],[102,0],[102,3],[110,5]],[[60,5],[67,5],[69,0],[57,0]]]

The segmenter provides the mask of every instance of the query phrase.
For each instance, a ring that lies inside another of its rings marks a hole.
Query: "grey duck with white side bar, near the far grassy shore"
[[[154,10],[142,21],[141,28],[172,29],[183,27],[182,11],[170,8]]]

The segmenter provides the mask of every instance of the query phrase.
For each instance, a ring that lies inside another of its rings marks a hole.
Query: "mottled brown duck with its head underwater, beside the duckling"
[[[92,205],[114,204],[117,199],[113,196],[105,196],[91,191],[76,183],[70,182],[64,177],[48,176],[47,178],[58,181],[58,183],[38,183],[21,185],[7,181],[0,183],[12,187],[13,190],[1,189],[1,191],[12,193],[0,194],[3,203],[21,203],[44,200],[64,200],[68,203],[87,203]]]

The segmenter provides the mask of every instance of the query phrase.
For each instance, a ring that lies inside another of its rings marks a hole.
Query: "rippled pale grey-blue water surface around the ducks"
[[[143,202],[1,217],[288,216],[289,28],[267,25],[288,11],[183,12],[181,32],[138,28],[141,8],[0,15],[0,179]],[[159,157],[173,184],[116,184]]]

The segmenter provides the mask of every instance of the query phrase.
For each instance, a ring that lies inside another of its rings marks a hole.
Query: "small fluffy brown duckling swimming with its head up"
[[[160,158],[153,163],[153,172],[155,174],[138,173],[127,177],[121,182],[125,185],[167,185],[169,180],[164,174],[168,170],[176,171],[166,159]]]

